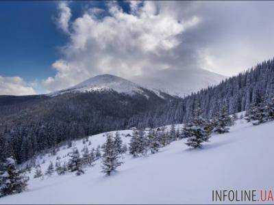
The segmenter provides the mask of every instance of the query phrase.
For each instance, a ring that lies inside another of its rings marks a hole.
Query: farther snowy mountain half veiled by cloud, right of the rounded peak
[[[224,76],[199,68],[165,69],[152,74],[131,77],[129,80],[151,90],[186,96],[209,85],[220,83]]]

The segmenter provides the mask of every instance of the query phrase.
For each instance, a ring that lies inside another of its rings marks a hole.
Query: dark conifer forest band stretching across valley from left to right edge
[[[59,143],[105,131],[188,122],[197,108],[208,120],[226,107],[229,114],[248,110],[247,118],[262,122],[264,117],[254,117],[251,111],[271,103],[273,83],[274,59],[184,98],[116,92],[1,96],[0,160],[12,155],[22,163]],[[157,146],[153,143],[151,148]]]

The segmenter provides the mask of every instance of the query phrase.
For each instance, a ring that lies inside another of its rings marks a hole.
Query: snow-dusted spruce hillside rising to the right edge
[[[193,82],[195,83],[195,82]],[[153,111],[136,115],[129,126],[162,126],[187,122],[199,106],[204,118],[212,118],[226,105],[230,114],[245,111],[250,105],[266,102],[274,94],[274,59],[264,61],[254,68],[229,77],[219,85],[208,87],[183,99],[173,100]]]

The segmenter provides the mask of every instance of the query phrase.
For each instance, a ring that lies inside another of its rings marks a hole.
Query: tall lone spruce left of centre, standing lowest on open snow
[[[114,139],[109,134],[103,146],[102,172],[108,176],[115,172],[117,167],[122,165],[120,157],[121,154],[115,148]]]

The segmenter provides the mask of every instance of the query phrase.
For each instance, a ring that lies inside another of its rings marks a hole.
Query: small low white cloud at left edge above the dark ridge
[[[27,85],[21,77],[0,76],[0,95],[31,95],[34,89]]]

